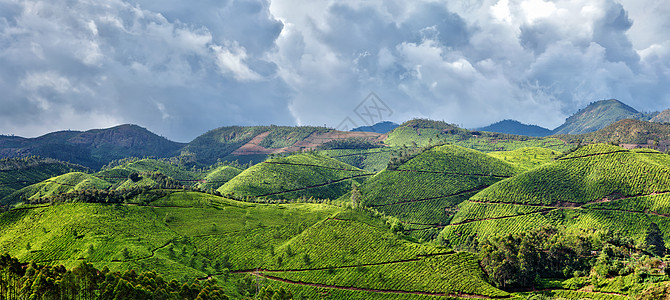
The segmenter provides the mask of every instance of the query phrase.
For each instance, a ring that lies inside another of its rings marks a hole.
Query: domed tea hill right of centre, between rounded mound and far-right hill
[[[515,174],[510,164],[459,146],[432,147],[410,157],[361,184],[356,201],[397,217],[413,236],[426,239],[449,223],[460,202]],[[354,198],[348,194],[342,200]]]

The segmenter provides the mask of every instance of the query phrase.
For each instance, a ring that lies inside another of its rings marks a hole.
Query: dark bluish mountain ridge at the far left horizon
[[[169,157],[184,145],[137,125],[88,131],[58,131],[36,138],[0,138],[0,156],[39,155],[98,169],[126,157]]]

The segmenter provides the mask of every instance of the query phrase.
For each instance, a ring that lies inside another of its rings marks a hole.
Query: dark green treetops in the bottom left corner
[[[64,266],[30,264],[27,269],[9,255],[0,256],[2,299],[228,299],[216,281],[191,284],[167,281],[154,272],[110,272],[81,263]],[[285,292],[284,292],[285,293]]]

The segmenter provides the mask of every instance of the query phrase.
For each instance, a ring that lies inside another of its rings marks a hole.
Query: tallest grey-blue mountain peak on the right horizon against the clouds
[[[597,131],[622,119],[648,121],[655,114],[641,113],[616,99],[601,100],[580,109],[553,130],[554,134],[582,134]]]

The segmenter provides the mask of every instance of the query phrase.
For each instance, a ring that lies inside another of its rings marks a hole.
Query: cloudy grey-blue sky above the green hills
[[[0,0],[0,134],[670,108],[667,0]]]

